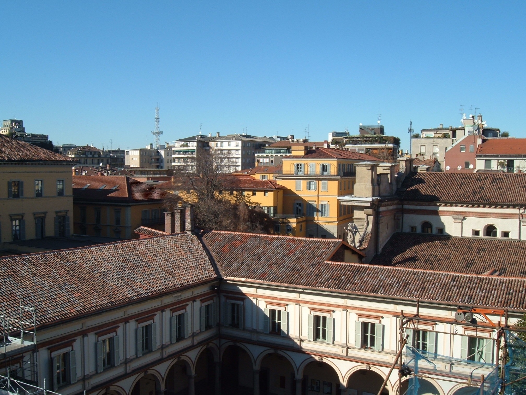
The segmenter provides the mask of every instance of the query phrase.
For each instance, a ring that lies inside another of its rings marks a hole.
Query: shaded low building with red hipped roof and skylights
[[[167,192],[127,176],[73,176],[76,234],[133,239],[141,225],[164,230]]]

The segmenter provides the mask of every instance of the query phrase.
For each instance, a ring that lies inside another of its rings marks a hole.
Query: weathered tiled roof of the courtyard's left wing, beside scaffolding
[[[170,251],[170,253],[167,253]],[[216,278],[197,239],[185,233],[0,258],[0,301],[38,306],[38,324],[155,297]]]

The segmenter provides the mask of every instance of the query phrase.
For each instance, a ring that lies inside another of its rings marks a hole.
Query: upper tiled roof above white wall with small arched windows
[[[526,204],[524,173],[410,173],[400,197],[409,201]]]

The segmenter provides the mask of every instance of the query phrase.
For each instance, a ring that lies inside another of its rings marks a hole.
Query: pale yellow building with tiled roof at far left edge
[[[68,237],[72,166],[65,155],[0,135],[0,241]],[[3,249],[16,251],[15,246]]]

